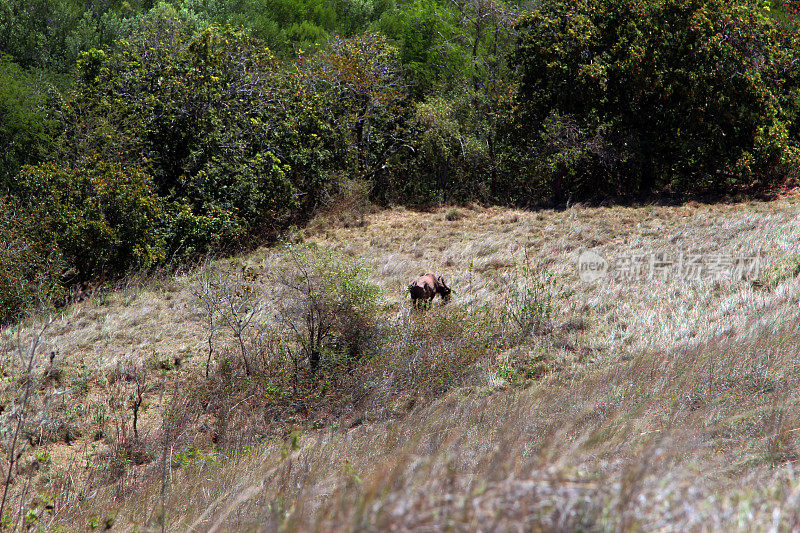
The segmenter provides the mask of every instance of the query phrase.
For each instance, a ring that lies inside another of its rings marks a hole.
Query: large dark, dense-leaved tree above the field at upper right
[[[556,200],[751,185],[795,157],[781,105],[791,57],[762,6],[556,1],[517,29],[515,133],[538,135],[531,179]]]

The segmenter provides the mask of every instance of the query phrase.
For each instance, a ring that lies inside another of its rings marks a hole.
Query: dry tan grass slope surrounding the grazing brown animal
[[[318,218],[291,239],[358,259],[382,289],[392,336],[331,382],[338,396],[276,400],[289,385],[271,376],[285,369],[227,364],[237,344],[225,328],[206,377],[197,276],[131,281],[50,315],[4,523],[800,530],[800,201],[393,209],[351,227]],[[586,250],[759,257],[760,272],[586,282]],[[270,271],[282,253],[234,263]],[[453,298],[415,313],[405,288],[426,271]],[[264,279],[253,331],[276,316]],[[513,342],[507,325],[485,335],[531,287],[551,309],[545,323]],[[3,472],[24,356],[46,321],[2,332]]]

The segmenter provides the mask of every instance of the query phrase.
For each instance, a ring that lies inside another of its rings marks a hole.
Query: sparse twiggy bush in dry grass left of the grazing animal
[[[231,403],[259,398],[248,423],[271,424],[287,412],[338,416],[365,394],[365,368],[382,331],[380,290],[360,263],[330,250],[289,245],[274,257],[269,269],[222,263],[198,275],[209,362],[220,329],[239,345],[218,352],[208,385],[219,392],[210,393],[209,409],[225,419]],[[245,379],[237,377],[242,366]]]

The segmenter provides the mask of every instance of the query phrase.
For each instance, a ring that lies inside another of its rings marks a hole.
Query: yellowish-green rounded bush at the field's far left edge
[[[76,168],[55,163],[24,167],[12,182],[30,209],[46,206],[44,242],[54,242],[81,279],[120,274],[163,258],[155,233],[161,205],[149,176],[100,159]]]

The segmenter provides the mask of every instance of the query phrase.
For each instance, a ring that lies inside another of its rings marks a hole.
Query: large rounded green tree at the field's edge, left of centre
[[[307,174],[327,166],[321,125],[287,108],[300,97],[258,41],[217,26],[191,36],[175,23],[169,43],[159,23],[107,58],[84,54],[73,108],[92,128],[74,138],[146,165],[167,205],[170,256],[275,235],[300,193],[311,202],[324,190]]]

